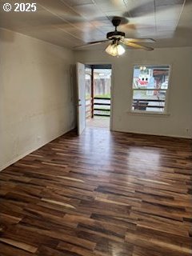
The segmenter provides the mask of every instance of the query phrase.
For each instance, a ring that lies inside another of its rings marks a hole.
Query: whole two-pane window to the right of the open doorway
[[[132,111],[166,112],[170,66],[134,66]]]

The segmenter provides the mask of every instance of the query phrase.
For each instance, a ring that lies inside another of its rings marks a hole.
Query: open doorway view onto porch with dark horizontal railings
[[[86,65],[86,126],[110,130],[111,65]]]

